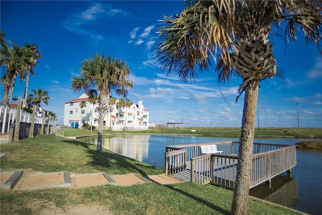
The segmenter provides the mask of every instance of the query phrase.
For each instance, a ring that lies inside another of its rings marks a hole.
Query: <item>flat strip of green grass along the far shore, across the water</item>
[[[84,136],[97,134],[97,130],[85,129],[62,129],[65,136]],[[191,130],[195,130],[192,132]],[[193,135],[222,135],[222,136],[240,136],[240,128],[225,127],[185,127],[184,129],[174,129],[167,127],[154,127],[142,131],[111,131],[103,130],[103,134],[116,133],[169,133],[169,134],[193,134]],[[322,128],[261,128],[255,129],[255,136],[280,136],[297,138],[322,138]]]

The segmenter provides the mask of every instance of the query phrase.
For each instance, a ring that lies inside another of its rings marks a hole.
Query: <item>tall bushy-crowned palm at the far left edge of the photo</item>
[[[30,64],[31,53],[26,48],[13,43],[12,47],[1,49],[1,64],[7,68],[1,82],[4,83],[3,103],[11,104],[11,98],[16,83],[16,77],[19,75],[20,80],[25,78],[25,70]],[[9,92],[10,90],[10,92]],[[8,98],[9,94],[9,99]]]

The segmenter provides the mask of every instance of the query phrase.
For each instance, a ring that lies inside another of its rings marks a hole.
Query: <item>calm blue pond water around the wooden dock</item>
[[[97,137],[83,140],[97,144]],[[116,135],[103,137],[103,148],[117,152],[164,169],[165,151],[168,145],[219,142],[238,138],[172,135]],[[255,138],[254,142],[294,145],[313,139]],[[263,183],[250,190],[250,194],[279,203],[309,214],[322,214],[322,150],[296,150],[297,164],[291,177],[283,173],[272,179],[271,187]]]

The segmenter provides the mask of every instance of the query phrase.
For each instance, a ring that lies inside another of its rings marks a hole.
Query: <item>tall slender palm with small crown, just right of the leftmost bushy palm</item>
[[[37,65],[38,61],[37,59],[41,58],[41,55],[39,54],[40,50],[38,50],[37,46],[34,44],[25,44],[25,48],[30,52],[30,62],[27,64],[27,69],[26,69],[26,85],[25,85],[25,93],[24,93],[24,99],[22,103],[22,107],[26,106],[27,103],[27,94],[28,94],[28,84],[29,84],[29,76],[30,74],[33,76],[34,75],[34,69],[33,67]]]

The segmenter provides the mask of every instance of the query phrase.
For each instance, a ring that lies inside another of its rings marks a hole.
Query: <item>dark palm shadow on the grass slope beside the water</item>
[[[86,148],[89,157],[92,158],[92,161],[88,164],[92,165],[97,170],[107,172],[108,174],[115,174],[119,170],[119,174],[135,172],[140,173],[142,176],[147,176],[150,173],[146,173],[144,169],[149,168],[151,170],[150,172],[157,172],[159,170],[159,168],[157,167],[148,167],[143,163],[136,161],[135,159],[131,159],[123,155],[118,155],[106,149],[103,149],[102,153],[98,153],[96,149],[94,150],[90,148],[90,146],[92,145],[86,142],[79,140],[66,140],[65,142]],[[111,172],[107,170],[110,170]],[[125,172],[124,170],[127,170],[127,172]]]

